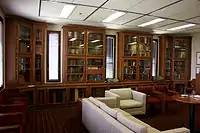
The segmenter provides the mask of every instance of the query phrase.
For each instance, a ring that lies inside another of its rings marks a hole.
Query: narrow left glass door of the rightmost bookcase
[[[172,44],[166,42],[166,52],[165,52],[165,79],[171,79],[171,58],[172,58]]]

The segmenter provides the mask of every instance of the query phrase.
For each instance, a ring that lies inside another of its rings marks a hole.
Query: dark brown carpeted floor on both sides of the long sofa
[[[80,105],[32,107],[26,133],[87,133],[81,123]],[[200,106],[196,108],[196,127],[200,129]],[[137,116],[159,130],[188,127],[188,105],[170,104],[165,114],[158,110]]]

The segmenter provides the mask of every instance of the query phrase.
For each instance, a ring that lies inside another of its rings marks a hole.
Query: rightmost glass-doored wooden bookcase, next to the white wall
[[[190,79],[191,37],[160,37],[160,75],[172,80],[178,91]]]

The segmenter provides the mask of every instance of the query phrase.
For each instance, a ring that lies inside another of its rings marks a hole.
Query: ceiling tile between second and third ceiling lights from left
[[[127,13],[125,15],[123,15],[122,17],[119,17],[115,20],[113,20],[113,22],[110,22],[110,23],[113,23],[113,24],[124,24],[125,22],[128,22],[132,19],[135,19],[137,17],[140,17],[141,15],[138,15],[138,14],[134,14],[134,13]]]

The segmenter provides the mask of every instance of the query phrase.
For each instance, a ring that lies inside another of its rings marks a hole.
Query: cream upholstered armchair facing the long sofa
[[[117,97],[118,108],[131,115],[146,113],[146,94],[131,88],[110,89],[105,91],[105,97]]]

